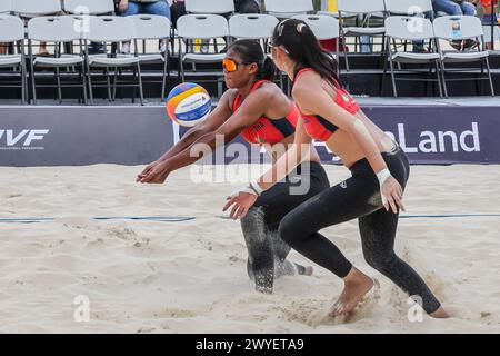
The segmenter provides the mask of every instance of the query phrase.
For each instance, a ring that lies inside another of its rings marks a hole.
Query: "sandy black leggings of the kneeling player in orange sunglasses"
[[[300,187],[309,189],[294,190]],[[304,162],[286,180],[264,191],[241,219],[248,249],[247,270],[257,290],[270,294],[274,278],[304,274],[303,266],[286,260],[291,248],[279,236],[278,227],[293,208],[329,187],[323,167],[317,162]]]

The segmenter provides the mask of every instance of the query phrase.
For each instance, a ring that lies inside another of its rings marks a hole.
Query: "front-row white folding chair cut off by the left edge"
[[[0,68],[13,68],[20,75],[21,85],[0,83],[0,87],[21,88],[21,102],[26,103],[27,98],[27,71],[24,60],[24,23],[18,17],[0,14],[0,42],[16,42],[16,48],[20,49],[17,55],[0,55]]]

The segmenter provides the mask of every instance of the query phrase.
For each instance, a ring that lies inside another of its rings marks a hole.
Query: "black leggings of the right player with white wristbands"
[[[392,176],[404,188],[410,166],[404,152],[396,147],[382,154]],[[410,296],[422,299],[431,314],[440,307],[423,279],[394,253],[398,214],[386,211],[380,187],[367,159],[356,162],[352,177],[306,201],[288,214],[279,227],[283,240],[316,264],[344,278],[351,263],[338,247],[318,231],[358,218],[367,263],[396,283]]]

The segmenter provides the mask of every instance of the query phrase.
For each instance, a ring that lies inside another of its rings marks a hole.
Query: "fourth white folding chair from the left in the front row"
[[[170,20],[159,14],[136,14],[129,17],[133,21],[136,29],[134,43],[136,56],[141,63],[162,63],[163,73],[161,80],[161,100],[164,100],[167,77],[169,76],[169,47],[166,46],[164,52],[147,53],[146,40],[166,41],[170,39]],[[139,41],[142,41],[142,53],[139,52]]]

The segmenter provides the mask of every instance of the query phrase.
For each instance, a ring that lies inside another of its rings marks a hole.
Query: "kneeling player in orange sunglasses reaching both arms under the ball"
[[[229,142],[242,134],[249,142],[266,147],[272,160],[283,154],[283,147],[293,142],[300,113],[282,90],[271,82],[276,67],[264,56],[260,43],[251,40],[234,42],[228,49],[223,67],[229,90],[223,93],[217,108],[160,159],[146,167],[138,181],[164,182],[170,172],[201,158],[191,156],[196,144],[216,148],[218,135]],[[309,190],[304,195],[290,195],[289,188],[299,179],[301,184],[309,185]],[[286,259],[290,247],[279,237],[278,227],[289,211],[328,187],[327,174],[318,154],[312,150],[310,160],[261,195],[241,219],[249,255],[248,274],[254,280],[257,290],[272,293],[274,277],[280,275],[312,274],[312,267]]]

